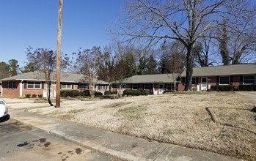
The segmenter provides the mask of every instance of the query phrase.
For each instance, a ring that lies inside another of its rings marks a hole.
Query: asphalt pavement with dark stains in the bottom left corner
[[[113,160],[104,154],[0,118],[0,160]]]

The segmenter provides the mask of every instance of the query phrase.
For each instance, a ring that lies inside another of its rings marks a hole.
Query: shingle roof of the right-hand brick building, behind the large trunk
[[[256,74],[256,63],[254,64],[235,64],[223,65],[213,67],[194,67],[193,77],[200,76],[218,76],[218,75],[254,75]],[[186,77],[186,70],[184,70],[181,77]]]

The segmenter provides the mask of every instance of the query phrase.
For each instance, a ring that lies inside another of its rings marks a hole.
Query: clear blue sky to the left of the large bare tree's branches
[[[108,45],[121,0],[63,0],[62,52]],[[0,0],[0,62],[26,61],[26,48],[56,50],[59,0]]]

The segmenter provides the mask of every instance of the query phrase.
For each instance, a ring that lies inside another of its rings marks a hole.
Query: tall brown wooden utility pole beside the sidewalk
[[[60,107],[60,54],[62,46],[62,4],[59,0],[58,40],[57,40],[57,70],[56,70],[56,108]]]

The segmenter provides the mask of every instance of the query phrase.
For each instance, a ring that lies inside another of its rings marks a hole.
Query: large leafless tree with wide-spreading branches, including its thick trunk
[[[186,47],[187,91],[191,88],[193,48],[197,40],[216,29],[223,19],[244,23],[247,16],[255,15],[254,3],[249,0],[127,0],[117,29],[110,32],[125,36],[127,41],[143,38],[149,45],[166,39],[182,42]]]

